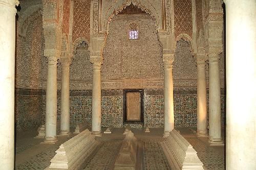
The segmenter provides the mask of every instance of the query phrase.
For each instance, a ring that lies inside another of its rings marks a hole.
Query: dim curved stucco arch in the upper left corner
[[[42,16],[42,5],[31,6],[23,13],[19,13],[19,15],[18,34],[22,37],[26,37],[30,23]]]

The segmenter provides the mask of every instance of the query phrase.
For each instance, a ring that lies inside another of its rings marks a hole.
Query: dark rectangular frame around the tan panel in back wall
[[[140,120],[127,120],[126,93],[128,92],[140,93]],[[144,89],[123,89],[123,124],[144,125]]]

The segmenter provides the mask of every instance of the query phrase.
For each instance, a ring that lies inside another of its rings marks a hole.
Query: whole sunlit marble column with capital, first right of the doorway
[[[173,86],[174,54],[164,54],[164,137],[174,129],[174,86]]]

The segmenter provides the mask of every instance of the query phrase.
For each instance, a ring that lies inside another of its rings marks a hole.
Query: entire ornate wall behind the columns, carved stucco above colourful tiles
[[[22,16],[20,16],[22,17]],[[134,19],[137,18],[137,19]],[[129,25],[136,22],[138,40],[129,40]],[[125,28],[125,29],[123,29]],[[17,131],[36,129],[45,122],[47,59],[44,57],[44,34],[42,16],[33,20],[26,37],[17,33],[16,46],[16,90],[15,123]],[[86,46],[86,45],[85,45]],[[220,74],[224,79],[224,55],[221,54]],[[163,79],[162,51],[157,38],[155,24],[146,14],[136,17],[120,14],[113,18],[110,33],[103,51],[102,79]],[[61,80],[61,64],[58,64],[58,83]],[[188,43],[177,43],[173,66],[174,80],[197,78],[196,63],[189,51]],[[206,78],[208,65],[206,64]],[[92,80],[90,53],[80,44],[70,66],[71,81]],[[191,82],[191,81],[190,81]],[[186,89],[174,82],[175,126],[189,127],[197,123],[197,89],[195,84],[184,81]],[[222,87],[223,86],[222,81]],[[71,86],[76,86],[71,82]],[[60,86],[59,86],[60,87]],[[60,119],[60,91],[57,99],[57,118]],[[122,90],[102,90],[102,127],[123,126]],[[208,97],[207,97],[208,99]],[[79,87],[70,91],[70,126],[87,121],[91,124],[92,91]],[[163,127],[163,89],[144,89],[144,124],[148,127]],[[225,123],[225,91],[221,90],[222,125]]]

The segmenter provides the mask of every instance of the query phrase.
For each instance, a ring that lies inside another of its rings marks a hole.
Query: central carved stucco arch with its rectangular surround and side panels
[[[104,3],[111,3],[112,5],[110,8],[102,14],[102,0],[94,0],[93,4],[93,37],[104,37],[104,33],[108,34],[109,31],[109,24],[114,16],[121,13],[127,6],[133,4],[141,11],[145,12],[146,14],[150,15],[155,22],[155,27],[159,30],[161,35],[169,35],[170,34],[170,2],[164,1],[160,4],[161,8],[164,10],[156,10],[156,7],[152,4],[151,1],[148,0],[115,0],[115,1],[107,1],[105,0]],[[161,14],[163,13],[163,14]],[[165,24],[166,30],[162,30],[162,27],[159,28],[160,19],[164,16],[164,21],[161,20],[161,23]]]

